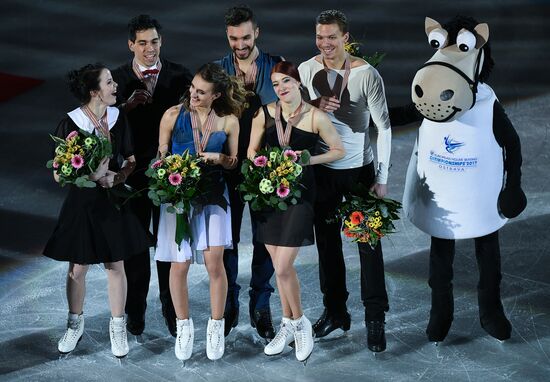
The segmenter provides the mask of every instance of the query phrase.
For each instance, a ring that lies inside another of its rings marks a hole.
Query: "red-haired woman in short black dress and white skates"
[[[254,158],[265,136],[267,146],[290,147],[298,153],[302,150],[313,153],[319,138],[322,139],[330,150],[312,155],[309,165],[342,158],[344,149],[340,136],[328,116],[302,99],[296,66],[288,61],[278,63],[271,71],[271,81],[279,101],[263,106],[254,117],[248,157]],[[264,352],[280,354],[285,346],[295,341],[296,358],[304,361],[313,350],[313,338],[311,322],[302,311],[294,260],[301,246],[314,243],[315,180],[311,166],[304,167],[301,183],[304,185],[302,197],[296,205],[290,205],[286,211],[258,214],[256,237],[265,244],[273,261],[283,310],[280,329]]]

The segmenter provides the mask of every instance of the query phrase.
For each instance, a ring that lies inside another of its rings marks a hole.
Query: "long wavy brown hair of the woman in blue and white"
[[[220,96],[212,102],[212,109],[216,114],[220,117],[233,114],[240,118],[243,110],[248,106],[246,97],[250,92],[237,80],[237,77],[230,76],[220,65],[214,63],[201,66],[195,73],[197,74],[214,85],[214,93],[220,93]],[[187,91],[183,99],[183,105],[187,110],[190,110],[190,98],[191,94]]]

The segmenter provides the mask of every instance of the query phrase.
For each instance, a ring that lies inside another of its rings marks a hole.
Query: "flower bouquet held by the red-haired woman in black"
[[[253,160],[245,159],[241,167],[244,182],[239,185],[243,199],[253,211],[285,211],[289,204],[298,203],[302,166],[309,158],[307,150],[298,155],[289,148],[272,147],[260,150]]]

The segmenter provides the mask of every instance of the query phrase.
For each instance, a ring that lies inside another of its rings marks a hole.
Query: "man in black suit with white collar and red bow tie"
[[[113,71],[118,83],[117,104],[128,116],[135,144],[136,170],[127,184],[135,190],[147,188],[145,170],[157,154],[159,124],[169,107],[176,105],[191,84],[191,73],[185,67],[160,58],[161,26],[148,15],[134,17],[128,23],[128,47],[134,57]],[[153,232],[158,228],[158,207],[146,192],[133,198],[130,205],[146,230],[153,218]],[[156,241],[156,240],[155,240]],[[128,282],[126,314],[128,331],[140,335],[145,328],[145,309],[151,278],[149,251],[124,262]],[[176,336],[176,314],[168,284],[170,263],[157,262],[162,314],[170,333]]]

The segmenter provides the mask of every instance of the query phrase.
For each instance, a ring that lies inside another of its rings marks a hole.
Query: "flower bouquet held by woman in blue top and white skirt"
[[[191,240],[189,213],[194,200],[203,192],[201,182],[201,160],[185,151],[182,155],[172,154],[153,159],[145,175],[149,179],[147,196],[153,204],[170,204],[167,211],[176,214],[176,235],[178,247],[183,239]]]

